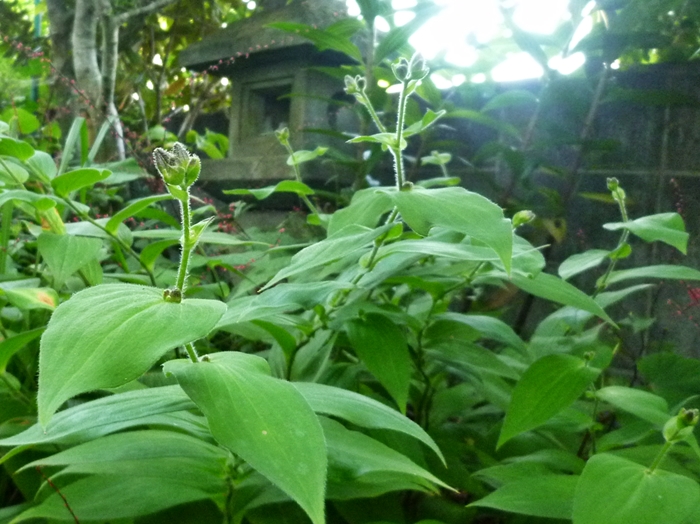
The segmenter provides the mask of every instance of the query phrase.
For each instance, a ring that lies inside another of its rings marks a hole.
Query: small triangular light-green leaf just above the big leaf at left
[[[39,253],[51,270],[54,287],[60,289],[69,276],[97,258],[102,249],[102,240],[42,233],[37,239],[37,245]]]

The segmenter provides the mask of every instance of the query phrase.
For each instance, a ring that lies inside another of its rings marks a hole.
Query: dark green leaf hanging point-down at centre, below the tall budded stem
[[[386,388],[401,413],[406,413],[411,382],[411,357],[406,335],[383,315],[368,314],[346,324],[355,353]]]

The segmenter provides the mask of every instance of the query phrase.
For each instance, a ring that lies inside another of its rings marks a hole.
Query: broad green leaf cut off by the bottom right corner
[[[574,498],[574,524],[685,524],[700,506],[688,477],[605,453],[586,464]]]

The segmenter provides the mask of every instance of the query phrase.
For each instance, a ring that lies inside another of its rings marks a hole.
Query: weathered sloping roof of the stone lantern
[[[261,6],[264,8],[261,13],[217,31],[182,51],[180,65],[199,71],[208,69],[211,74],[225,76],[249,67],[251,62],[257,66],[300,55],[318,55],[316,48],[301,35],[267,26],[292,22],[324,29],[347,17],[345,0],[295,0],[289,5],[285,0],[267,0],[261,2]],[[255,60],[249,61],[253,56]]]

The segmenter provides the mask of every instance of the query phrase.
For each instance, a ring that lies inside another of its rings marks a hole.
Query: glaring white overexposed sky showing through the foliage
[[[358,16],[360,9],[355,0],[346,0],[348,14]],[[513,7],[513,21],[524,31],[551,35],[562,24],[570,21],[569,0],[434,0],[442,11],[428,20],[412,37],[411,45],[428,60],[440,56],[444,62],[455,68],[473,66],[479,58],[478,46],[487,45],[497,38],[508,38],[510,31],[505,26],[499,8],[501,3]],[[411,11],[416,0],[393,0],[396,10],[392,20],[395,26],[408,23],[415,16]],[[590,11],[595,5],[587,6]],[[388,31],[389,21],[379,18],[375,22],[379,31]],[[580,40],[590,32],[592,21],[584,18],[574,40]],[[573,42],[572,42],[573,43]],[[562,74],[570,74],[585,62],[581,53],[563,57],[557,55],[549,62],[549,67]],[[543,74],[542,67],[527,53],[512,52],[503,57],[503,61],[488,72],[473,74],[466,78],[463,74],[432,75],[436,86],[445,89],[459,85],[465,80],[483,82],[488,79],[507,82],[537,78]]]

